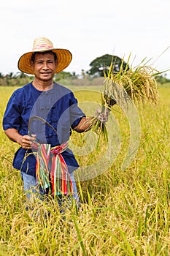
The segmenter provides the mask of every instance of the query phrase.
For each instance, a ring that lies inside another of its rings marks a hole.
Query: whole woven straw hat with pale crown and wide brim
[[[18,69],[27,74],[34,75],[31,68],[31,56],[35,52],[44,52],[47,50],[53,50],[57,55],[57,67],[55,73],[61,72],[63,69],[69,66],[72,61],[72,53],[66,49],[56,49],[53,47],[53,43],[47,39],[47,37],[37,37],[34,39],[33,48],[30,52],[23,54],[18,61]]]

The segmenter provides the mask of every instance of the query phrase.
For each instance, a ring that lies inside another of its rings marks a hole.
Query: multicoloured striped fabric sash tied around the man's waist
[[[51,148],[50,144],[33,143],[36,149],[36,182],[42,189],[52,188],[53,195],[73,194],[72,179],[62,152],[68,142]]]

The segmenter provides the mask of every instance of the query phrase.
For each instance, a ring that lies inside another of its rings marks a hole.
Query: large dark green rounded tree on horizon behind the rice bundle
[[[119,72],[122,61],[123,61],[123,59],[120,59],[120,57],[118,57],[118,56],[112,56],[109,54],[105,54],[101,57],[94,59],[90,63],[91,68],[88,71],[88,74],[103,77],[104,72],[109,70],[109,67],[111,64],[113,64],[113,72]],[[125,61],[123,61],[123,70],[125,69],[126,66],[127,66],[127,63],[125,63]]]

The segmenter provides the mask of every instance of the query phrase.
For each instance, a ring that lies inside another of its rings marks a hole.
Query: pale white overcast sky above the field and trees
[[[6,0],[0,4],[0,72],[18,72],[18,59],[36,37],[72,52],[64,71],[81,74],[110,54],[136,67],[146,58],[159,72],[170,69],[169,0]],[[170,71],[164,74],[170,78]]]

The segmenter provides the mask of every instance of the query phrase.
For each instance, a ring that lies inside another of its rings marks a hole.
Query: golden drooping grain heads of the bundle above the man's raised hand
[[[144,60],[135,69],[126,64],[123,70],[122,62],[119,72],[114,72],[114,64],[111,64],[109,72],[104,74],[105,82],[102,94],[109,93],[111,97],[117,97],[118,101],[120,101],[120,97],[127,98],[128,96],[137,105],[141,102],[143,104],[145,102],[156,104],[158,102],[158,86],[155,76],[161,72],[144,63]],[[109,90],[108,83],[112,83],[109,85]],[[120,94],[117,90],[124,91],[124,93]],[[125,96],[125,94],[127,95]]]

